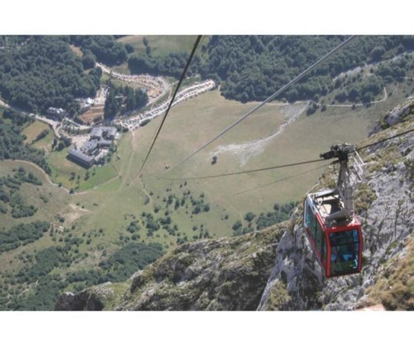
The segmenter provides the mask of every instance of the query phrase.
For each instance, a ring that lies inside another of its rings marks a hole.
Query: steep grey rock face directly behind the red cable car
[[[407,111],[401,113],[409,114]],[[413,122],[407,120],[361,144],[391,137],[409,128],[413,128]],[[362,157],[366,162],[363,181],[354,191],[355,209],[364,237],[362,272],[324,278],[306,238],[302,207],[299,207],[291,219],[293,229],[286,231],[278,244],[276,265],[258,310],[353,310],[363,307],[370,302],[369,287],[386,270],[387,263],[407,254],[406,244],[414,227],[414,136],[410,133],[379,143],[362,152]],[[334,178],[332,169],[325,171],[313,191],[328,187]],[[413,277],[409,278],[407,284],[413,284]],[[411,296],[407,297],[412,298],[413,294],[412,289]]]

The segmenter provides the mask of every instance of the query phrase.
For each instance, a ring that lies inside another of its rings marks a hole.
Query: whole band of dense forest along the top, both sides
[[[344,36],[214,35],[201,47],[187,75],[200,73],[203,78],[214,78],[228,99],[261,101],[344,39]],[[83,56],[77,57],[69,44],[80,47]],[[144,54],[131,55],[134,48],[117,42],[112,35],[0,36],[1,97],[27,111],[44,112],[54,106],[74,115],[79,111],[75,98],[92,97],[100,86],[102,71],[95,69],[96,61],[110,66],[128,61],[132,73],[175,78],[181,75],[189,52],[153,57],[145,38],[144,44]],[[384,83],[403,78],[413,63],[391,62],[375,70],[376,78],[353,80],[352,85],[349,80],[334,77],[411,49],[414,36],[357,37],[280,99],[318,101],[335,88],[341,88],[336,101],[369,103],[381,92]],[[347,85],[345,89],[343,82]]]

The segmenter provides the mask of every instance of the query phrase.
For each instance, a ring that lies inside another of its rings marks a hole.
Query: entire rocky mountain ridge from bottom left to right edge
[[[387,114],[378,133],[360,144],[413,128],[413,108],[407,103]],[[56,309],[354,310],[383,303],[413,310],[414,136],[360,153],[366,162],[355,190],[364,236],[360,274],[324,278],[299,204],[288,222],[240,237],[186,243],[127,282],[62,294]],[[336,174],[327,169],[313,191],[330,187]]]

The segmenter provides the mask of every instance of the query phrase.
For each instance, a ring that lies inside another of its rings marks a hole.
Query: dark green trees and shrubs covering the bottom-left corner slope
[[[27,225],[22,227],[27,227]],[[48,228],[49,225],[45,225],[42,232],[44,233]],[[138,269],[142,269],[163,253],[160,245],[151,244],[147,247],[140,243],[133,247],[129,246],[125,252],[121,248],[107,260],[102,261],[103,267],[100,266],[98,269],[90,271],[75,271],[69,273],[65,278],[61,274],[53,274],[53,269],[69,267],[74,260],[88,256],[87,253],[79,253],[78,247],[83,239],[73,237],[69,233],[69,229],[65,229],[65,233],[67,235],[64,238],[59,238],[59,242],[65,242],[64,246],[51,246],[40,250],[35,255],[25,254],[25,251],[22,251],[19,260],[25,266],[17,275],[6,274],[2,280],[3,284],[0,284],[1,310],[53,310],[56,297],[69,283],[79,281],[79,284],[74,284],[75,290],[78,291],[89,285],[108,281],[108,277],[112,281],[124,280],[128,276],[126,272],[133,273]],[[92,233],[95,237],[101,236],[104,235],[104,229],[91,231],[88,235],[89,243]],[[19,231],[18,234],[24,240],[35,238],[38,235],[33,231],[27,235],[23,231]],[[55,241],[54,234],[51,232],[50,235]],[[83,236],[86,236],[86,232]],[[126,263],[125,267],[124,262]],[[135,267],[134,262],[137,264]],[[27,292],[28,284],[30,284],[29,293]]]

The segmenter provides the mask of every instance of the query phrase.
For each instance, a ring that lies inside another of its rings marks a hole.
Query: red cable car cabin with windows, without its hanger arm
[[[325,276],[361,271],[361,224],[352,214],[333,218],[344,209],[336,190],[308,194],[304,202],[304,227]]]

